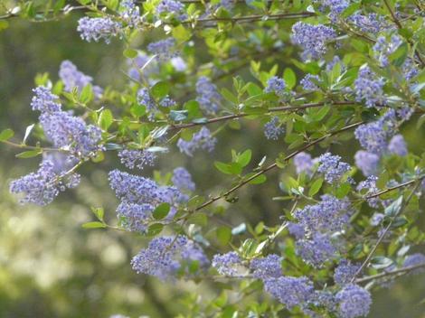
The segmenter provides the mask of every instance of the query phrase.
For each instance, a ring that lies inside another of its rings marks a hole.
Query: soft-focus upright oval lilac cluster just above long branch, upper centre
[[[196,93],[198,94],[196,101],[207,114],[217,113],[222,96],[211,79],[201,76],[196,81]]]

